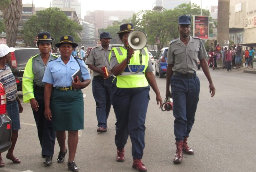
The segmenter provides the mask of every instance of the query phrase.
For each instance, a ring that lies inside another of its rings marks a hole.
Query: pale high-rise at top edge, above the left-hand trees
[[[77,16],[81,18],[81,2],[77,0],[52,0],[52,7],[75,8]]]

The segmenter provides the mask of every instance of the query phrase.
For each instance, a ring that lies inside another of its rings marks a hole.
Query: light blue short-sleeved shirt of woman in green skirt
[[[83,80],[91,79],[91,76],[85,66],[84,60],[78,59],[81,66]],[[72,85],[71,75],[80,69],[76,59],[70,56],[67,64],[61,57],[49,62],[45,69],[43,82],[53,84],[53,87],[69,87]]]

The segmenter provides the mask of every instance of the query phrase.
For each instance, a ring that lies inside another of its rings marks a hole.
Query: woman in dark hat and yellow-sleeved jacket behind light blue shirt
[[[31,57],[25,67],[22,79],[23,102],[29,102],[36,121],[37,134],[42,147],[42,156],[45,157],[44,164],[51,165],[54,153],[55,132],[52,129],[52,121],[44,117],[44,85],[42,82],[45,68],[51,59],[58,56],[53,55],[52,42],[54,38],[49,32],[40,32],[37,41],[39,54]]]

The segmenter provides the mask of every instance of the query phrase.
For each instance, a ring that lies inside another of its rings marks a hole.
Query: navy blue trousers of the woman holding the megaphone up
[[[142,159],[145,147],[145,121],[149,102],[149,86],[141,88],[117,88],[112,83],[112,105],[116,114],[115,144],[124,148],[128,136],[132,141],[133,159]]]

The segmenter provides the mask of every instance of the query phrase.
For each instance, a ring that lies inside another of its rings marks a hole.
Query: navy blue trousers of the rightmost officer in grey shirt
[[[172,75],[171,78],[174,135],[176,141],[188,137],[195,122],[196,107],[199,100],[200,81],[195,78],[181,78]]]

